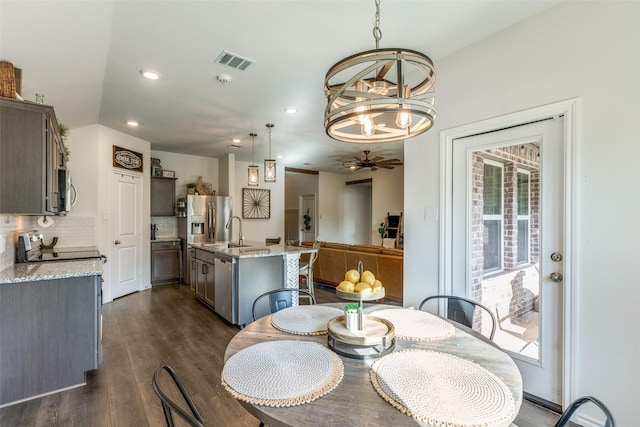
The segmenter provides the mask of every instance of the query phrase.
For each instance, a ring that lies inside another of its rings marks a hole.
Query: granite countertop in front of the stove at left
[[[14,264],[0,271],[0,285],[102,274],[100,259]]]

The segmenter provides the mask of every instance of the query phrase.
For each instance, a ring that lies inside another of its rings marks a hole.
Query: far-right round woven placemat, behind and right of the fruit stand
[[[374,316],[393,323],[396,337],[410,341],[435,341],[455,334],[456,328],[446,320],[422,310],[397,308],[377,310]]]

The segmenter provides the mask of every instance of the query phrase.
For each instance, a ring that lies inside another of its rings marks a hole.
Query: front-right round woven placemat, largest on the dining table
[[[426,350],[403,350],[370,370],[378,394],[401,412],[433,426],[489,427],[515,416],[507,386],[482,366]]]

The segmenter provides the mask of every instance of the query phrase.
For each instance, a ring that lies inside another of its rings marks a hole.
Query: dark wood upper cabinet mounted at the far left
[[[70,177],[49,105],[0,98],[0,213],[64,214]]]

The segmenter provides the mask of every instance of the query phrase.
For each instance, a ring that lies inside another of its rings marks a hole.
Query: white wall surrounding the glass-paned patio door
[[[405,143],[405,305],[438,291],[439,131],[578,97],[574,183],[577,359],[593,394],[640,425],[640,3],[566,2],[436,62],[438,119]],[[588,408],[585,408],[590,413]]]

